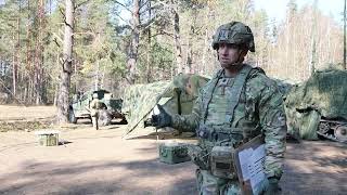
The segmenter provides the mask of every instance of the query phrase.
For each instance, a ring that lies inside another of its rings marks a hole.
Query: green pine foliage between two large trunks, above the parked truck
[[[110,15],[112,10],[115,10],[113,2],[89,1],[75,17],[74,51],[79,64],[74,81],[86,83],[79,88],[91,88],[97,77],[110,75],[114,79],[125,74],[126,57],[119,50],[120,40],[114,31],[117,24]]]

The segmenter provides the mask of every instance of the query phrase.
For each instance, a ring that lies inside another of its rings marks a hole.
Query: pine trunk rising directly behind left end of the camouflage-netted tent
[[[138,61],[138,49],[139,49],[139,38],[140,38],[140,0],[133,0],[133,11],[132,11],[132,35],[131,42],[128,50],[128,61],[127,61],[127,81],[130,84],[134,83],[136,79],[136,66]]]

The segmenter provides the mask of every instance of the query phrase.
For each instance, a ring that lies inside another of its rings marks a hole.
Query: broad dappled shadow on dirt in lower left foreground
[[[179,176],[188,164],[165,165],[151,159],[61,165],[33,160],[0,179],[0,194],[196,194],[194,178]],[[98,171],[101,177],[94,176]]]

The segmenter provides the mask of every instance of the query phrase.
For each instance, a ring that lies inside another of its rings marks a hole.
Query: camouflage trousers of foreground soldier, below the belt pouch
[[[196,185],[200,195],[239,195],[241,194],[237,179],[217,178],[208,170],[196,169]]]

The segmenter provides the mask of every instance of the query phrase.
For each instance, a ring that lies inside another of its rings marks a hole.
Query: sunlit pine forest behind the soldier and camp
[[[213,34],[231,21],[252,28],[256,52],[246,61],[270,77],[300,82],[345,68],[344,28],[317,0],[301,8],[291,0],[280,23],[253,0],[0,0],[0,98],[64,105],[66,115],[77,91],[121,98],[133,83],[211,76],[219,68]]]

